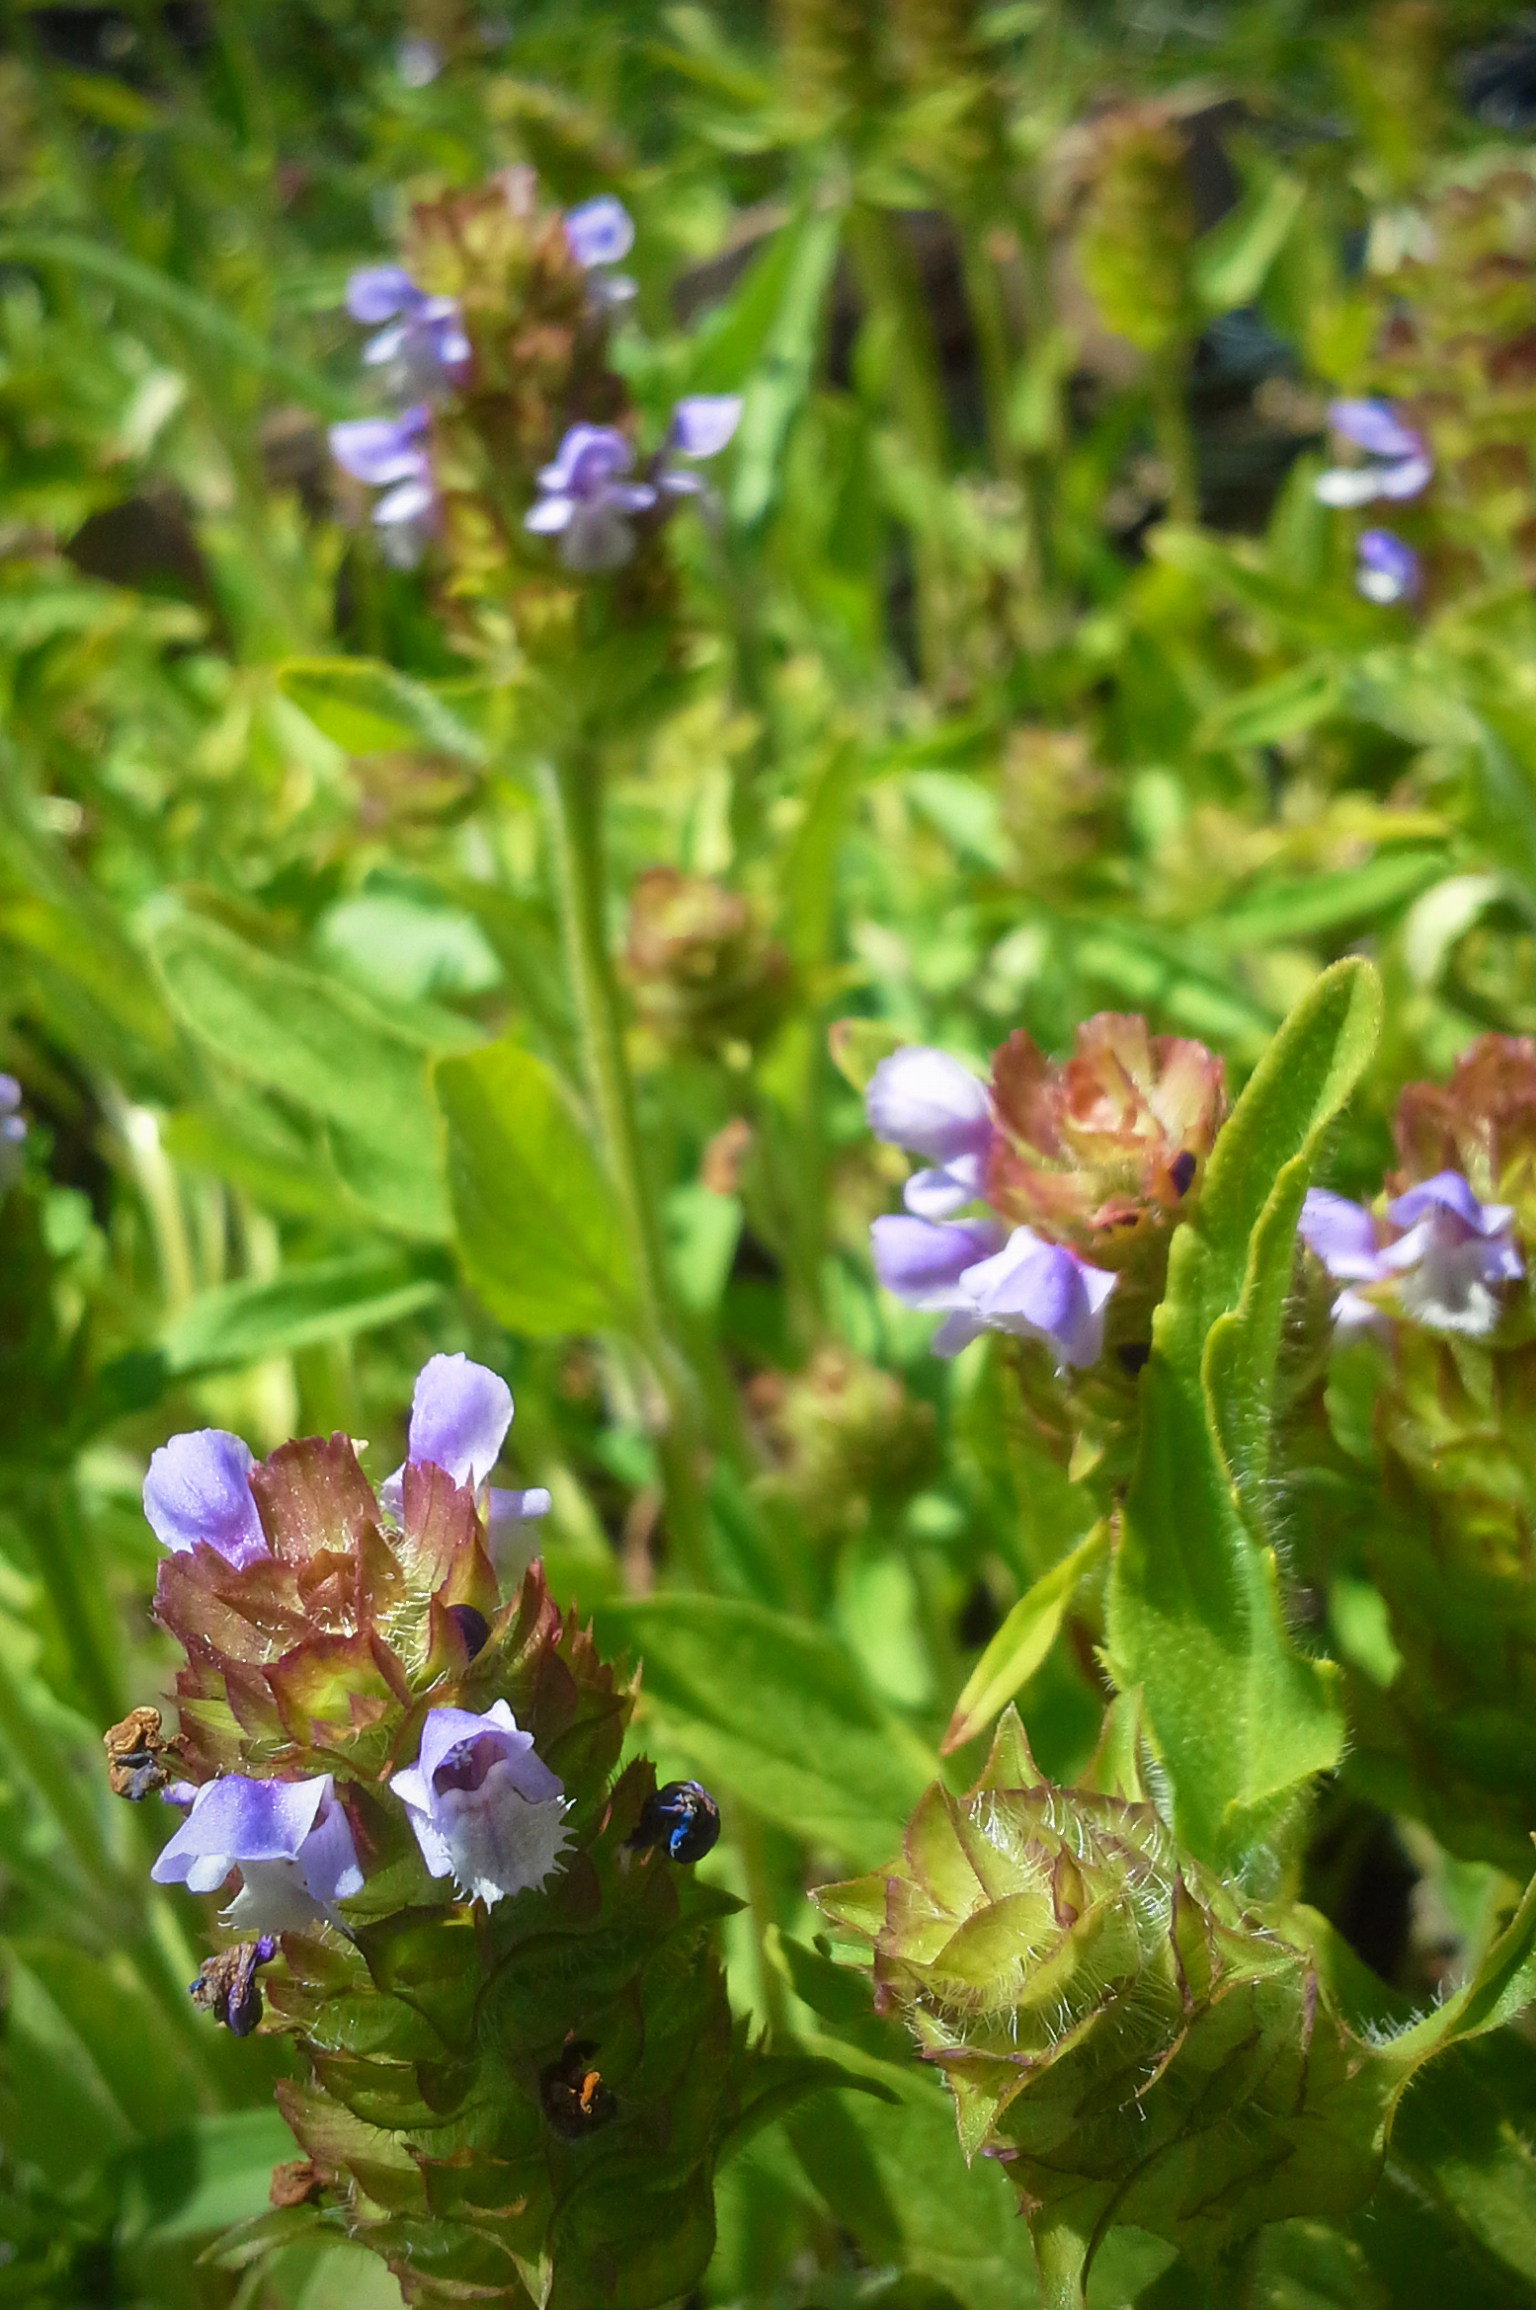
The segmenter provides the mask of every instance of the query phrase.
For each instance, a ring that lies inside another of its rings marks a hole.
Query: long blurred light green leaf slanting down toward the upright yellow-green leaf
[[[448,1234],[425,1040],[353,986],[199,915],[164,922],[150,952],[171,1007],[215,1058],[328,1125],[335,1169],[370,1213],[407,1236]]]

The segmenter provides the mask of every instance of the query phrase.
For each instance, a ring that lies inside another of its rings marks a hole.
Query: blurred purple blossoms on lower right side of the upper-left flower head
[[[700,497],[704,478],[677,457],[718,457],[741,420],[735,393],[693,393],[672,411],[661,453],[635,476],[635,450],[614,425],[573,425],[554,462],[538,474],[540,497],[527,515],[534,536],[559,538],[568,571],[596,578],[624,568],[635,552],[635,520],[658,517],[668,501]]]

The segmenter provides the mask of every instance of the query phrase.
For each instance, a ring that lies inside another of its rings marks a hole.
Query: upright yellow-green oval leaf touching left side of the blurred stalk
[[[554,1070],[499,1042],[443,1060],[437,1095],[460,1257],[492,1314],[536,1340],[633,1331],[617,1194]]]

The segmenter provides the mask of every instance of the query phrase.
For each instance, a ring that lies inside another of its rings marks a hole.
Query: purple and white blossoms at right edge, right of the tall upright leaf
[[[1344,1284],[1333,1303],[1342,1335],[1381,1331],[1395,1312],[1430,1331],[1481,1340],[1499,1324],[1504,1287],[1524,1275],[1513,1208],[1481,1204],[1460,1171],[1437,1171],[1409,1187],[1384,1217],[1312,1187],[1300,1238]]]

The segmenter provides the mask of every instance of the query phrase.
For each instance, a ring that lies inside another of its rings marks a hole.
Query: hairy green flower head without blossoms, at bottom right
[[[1536,1887],[1485,1980],[1395,2037],[1360,2028],[1326,1920],[1245,1903],[1180,1853],[1134,1744],[1120,1702],[1106,1786],[1058,1788],[1009,1709],[899,1862],[818,1894],[873,1945],[875,2003],[942,2070],[965,2155],[1005,2164],[1053,2305],[1081,2301],[1116,2227],[1199,2268],[1266,2222],[1351,2213],[1414,2072],[1531,1994]]]

